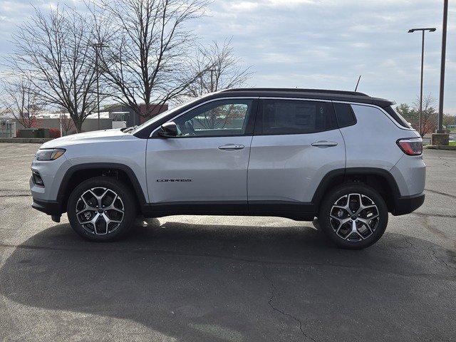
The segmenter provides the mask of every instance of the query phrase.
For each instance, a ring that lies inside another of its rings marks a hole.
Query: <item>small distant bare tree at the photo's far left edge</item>
[[[4,113],[14,116],[24,128],[36,125],[36,114],[41,110],[36,89],[26,78],[4,83],[5,96],[2,100]]]

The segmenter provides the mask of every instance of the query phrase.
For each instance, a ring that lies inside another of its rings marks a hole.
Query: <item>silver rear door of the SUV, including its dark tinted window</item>
[[[324,175],[345,163],[331,101],[262,98],[250,151],[249,209],[301,210]]]

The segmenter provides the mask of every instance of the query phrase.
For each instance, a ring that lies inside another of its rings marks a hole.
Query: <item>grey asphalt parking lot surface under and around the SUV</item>
[[[39,145],[0,144],[2,341],[454,341],[456,152],[363,251],[311,222],[175,216],[96,244],[31,209]]]

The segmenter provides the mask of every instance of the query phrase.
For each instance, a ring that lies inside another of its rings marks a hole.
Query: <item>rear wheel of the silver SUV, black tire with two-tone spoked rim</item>
[[[354,194],[359,194],[361,197]],[[335,204],[351,205],[348,203],[348,197],[353,204],[353,210],[361,210],[359,215],[352,212],[351,207],[348,209],[333,207]],[[356,202],[360,199],[364,206],[369,207],[368,209],[361,209],[361,207],[356,209]],[[375,207],[372,207],[371,202]],[[336,218],[331,218],[331,214]],[[375,218],[375,214],[378,214],[378,218]],[[363,219],[363,222],[360,219]],[[347,220],[348,222],[341,224]],[[355,221],[355,227],[353,227],[353,221]],[[363,183],[349,183],[334,188],[323,198],[318,213],[318,230],[326,234],[338,247],[344,249],[363,249],[375,244],[382,237],[387,225],[388,207],[385,200],[376,190]],[[356,229],[356,232],[353,232],[353,229]]]

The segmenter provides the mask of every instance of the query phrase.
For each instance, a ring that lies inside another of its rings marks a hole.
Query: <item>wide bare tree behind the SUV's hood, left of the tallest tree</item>
[[[93,28],[71,9],[36,9],[13,36],[9,66],[28,76],[28,83],[48,105],[65,108],[76,130],[95,108]]]

